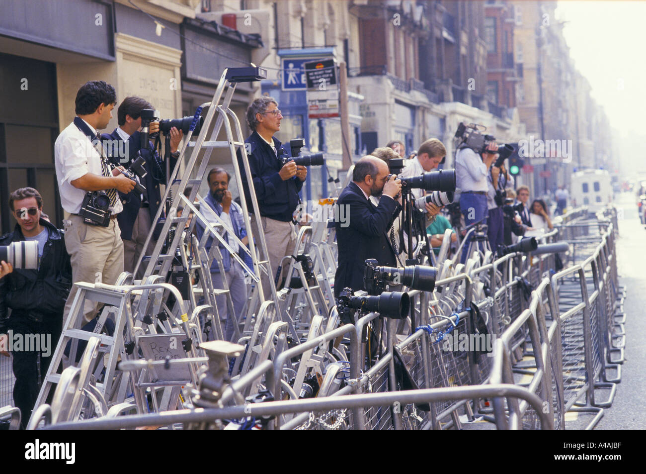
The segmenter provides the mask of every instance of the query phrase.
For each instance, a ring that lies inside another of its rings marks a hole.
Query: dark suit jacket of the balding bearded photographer
[[[344,213],[339,210],[339,216],[345,215],[346,222],[338,219],[335,223],[339,268],[334,279],[334,294],[338,297],[346,286],[353,291],[365,289],[366,259],[377,259],[380,265],[397,266],[387,232],[401,207],[388,196],[382,197],[379,206],[375,207],[353,182],[341,192],[336,205],[348,206]]]

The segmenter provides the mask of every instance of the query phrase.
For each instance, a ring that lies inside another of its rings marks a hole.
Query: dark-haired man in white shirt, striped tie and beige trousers
[[[110,169],[101,147],[97,130],[105,129],[116,104],[114,87],[105,81],[89,81],[76,94],[76,117],[56,139],[54,161],[56,180],[63,210],[69,213],[63,221],[65,248],[72,262],[72,281],[101,281],[114,284],[123,272],[123,241],[116,215],[123,206],[116,191],[129,193],[135,182]],[[92,139],[94,137],[94,139]],[[110,219],[107,226],[97,225],[81,217],[79,210],[88,191],[105,191],[109,199]],[[63,321],[67,319],[76,286],[65,304]],[[94,305],[87,305],[84,316],[94,317]]]

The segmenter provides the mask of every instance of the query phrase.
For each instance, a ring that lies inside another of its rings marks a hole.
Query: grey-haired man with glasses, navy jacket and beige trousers
[[[273,136],[280,131],[282,114],[274,98],[263,96],[254,100],[247,109],[247,124],[253,133],[245,140],[251,178],[258,199],[260,215],[253,215],[251,192],[247,177],[242,175],[242,189],[251,214],[253,229],[265,234],[271,277],[275,277],[285,255],[291,255],[296,245],[294,211],[300,202],[298,192],[307,178],[307,168],[297,166],[293,160],[283,164],[286,151]],[[238,150],[238,164],[242,169],[242,154]],[[262,274],[265,297],[271,294],[267,275]],[[278,277],[278,285],[282,278]]]

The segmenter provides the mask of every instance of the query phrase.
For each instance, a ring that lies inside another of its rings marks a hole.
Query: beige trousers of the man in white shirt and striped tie
[[[72,281],[95,283],[100,281],[113,285],[123,272],[123,241],[116,219],[110,219],[108,227],[90,226],[83,217],[70,215],[63,221],[65,227],[65,248],[72,263]],[[63,324],[76,296],[76,285],[72,286],[65,303]],[[96,304],[86,303],[83,316],[90,321],[96,316]]]

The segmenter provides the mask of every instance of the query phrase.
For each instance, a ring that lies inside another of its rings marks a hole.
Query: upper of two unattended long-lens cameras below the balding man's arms
[[[437,272],[432,266],[408,265],[400,268],[377,266],[377,260],[366,260],[364,287],[371,295],[382,294],[386,285],[406,285],[411,290],[432,292]]]

